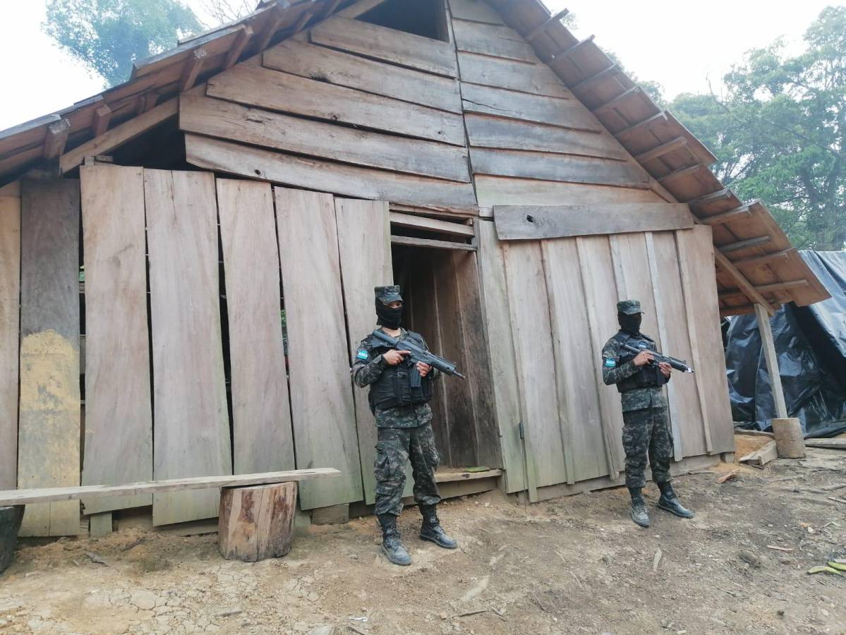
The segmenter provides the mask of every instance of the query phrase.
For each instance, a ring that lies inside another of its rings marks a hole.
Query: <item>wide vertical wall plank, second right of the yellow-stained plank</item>
[[[214,176],[145,170],[153,352],[153,478],[232,474]],[[198,329],[197,325],[202,325]],[[214,492],[153,496],[153,524],[217,516]]]

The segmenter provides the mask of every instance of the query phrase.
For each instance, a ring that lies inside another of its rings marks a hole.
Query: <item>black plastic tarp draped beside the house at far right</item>
[[[772,317],[772,336],[788,415],[805,436],[831,436],[846,431],[846,252],[799,253],[832,297],[785,304]],[[733,419],[768,430],[775,407],[755,315],[732,318],[726,366]]]

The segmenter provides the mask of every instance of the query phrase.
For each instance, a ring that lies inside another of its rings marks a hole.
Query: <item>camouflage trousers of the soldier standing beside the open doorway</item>
[[[435,470],[440,458],[435,448],[431,424],[416,428],[378,428],[376,443],[376,515],[403,511],[405,464],[411,461],[415,479],[415,502],[437,505],[441,495],[437,491]]]

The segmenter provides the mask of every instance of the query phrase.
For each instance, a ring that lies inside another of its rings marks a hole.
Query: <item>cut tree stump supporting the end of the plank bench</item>
[[[224,487],[217,546],[227,560],[281,558],[291,550],[297,484]]]

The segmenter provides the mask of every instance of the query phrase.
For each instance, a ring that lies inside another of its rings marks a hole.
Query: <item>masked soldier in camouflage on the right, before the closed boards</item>
[[[620,331],[602,348],[602,380],[616,384],[623,403],[623,448],[626,452],[626,486],[632,498],[631,517],[641,527],[649,527],[649,515],[641,491],[646,484],[644,471],[649,457],[652,479],[661,490],[658,507],[683,518],[693,517],[673,492],[670,484],[670,460],[673,457],[673,432],[667,416],[667,397],[663,386],[670,380],[670,364],[654,364],[651,351],[655,342],[640,332],[640,302],[617,303]],[[628,343],[642,348],[636,355],[622,350]]]

